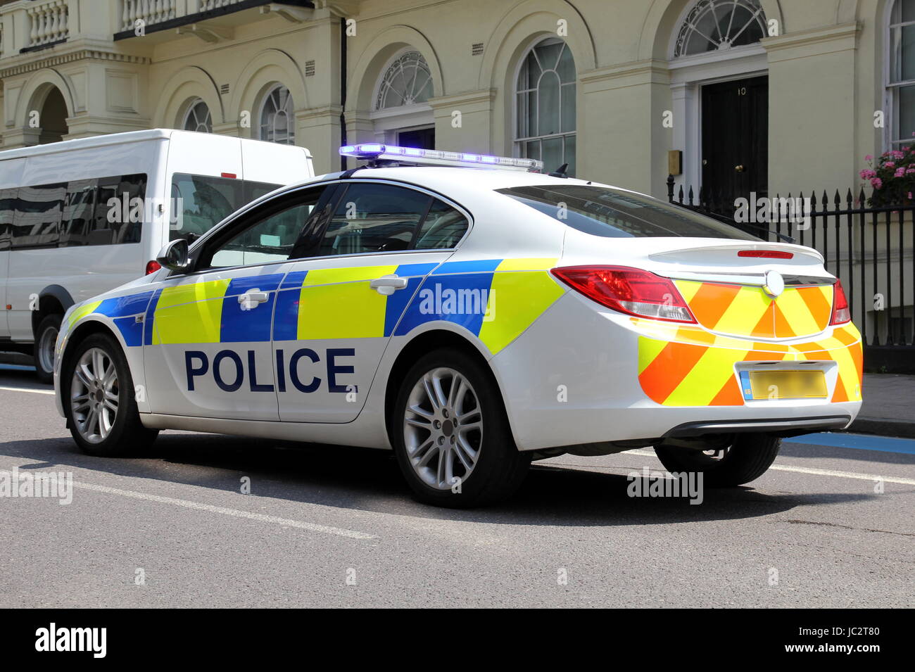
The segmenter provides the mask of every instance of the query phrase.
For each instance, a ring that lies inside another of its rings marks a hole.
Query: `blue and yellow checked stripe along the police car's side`
[[[353,266],[203,280],[82,305],[70,325],[92,313],[108,315],[135,347],[405,336],[445,321],[479,336],[495,354],[565,292],[549,274],[555,261]],[[404,289],[391,295],[371,289],[371,280],[394,274],[407,279]],[[269,298],[244,310],[238,297],[253,289]]]

